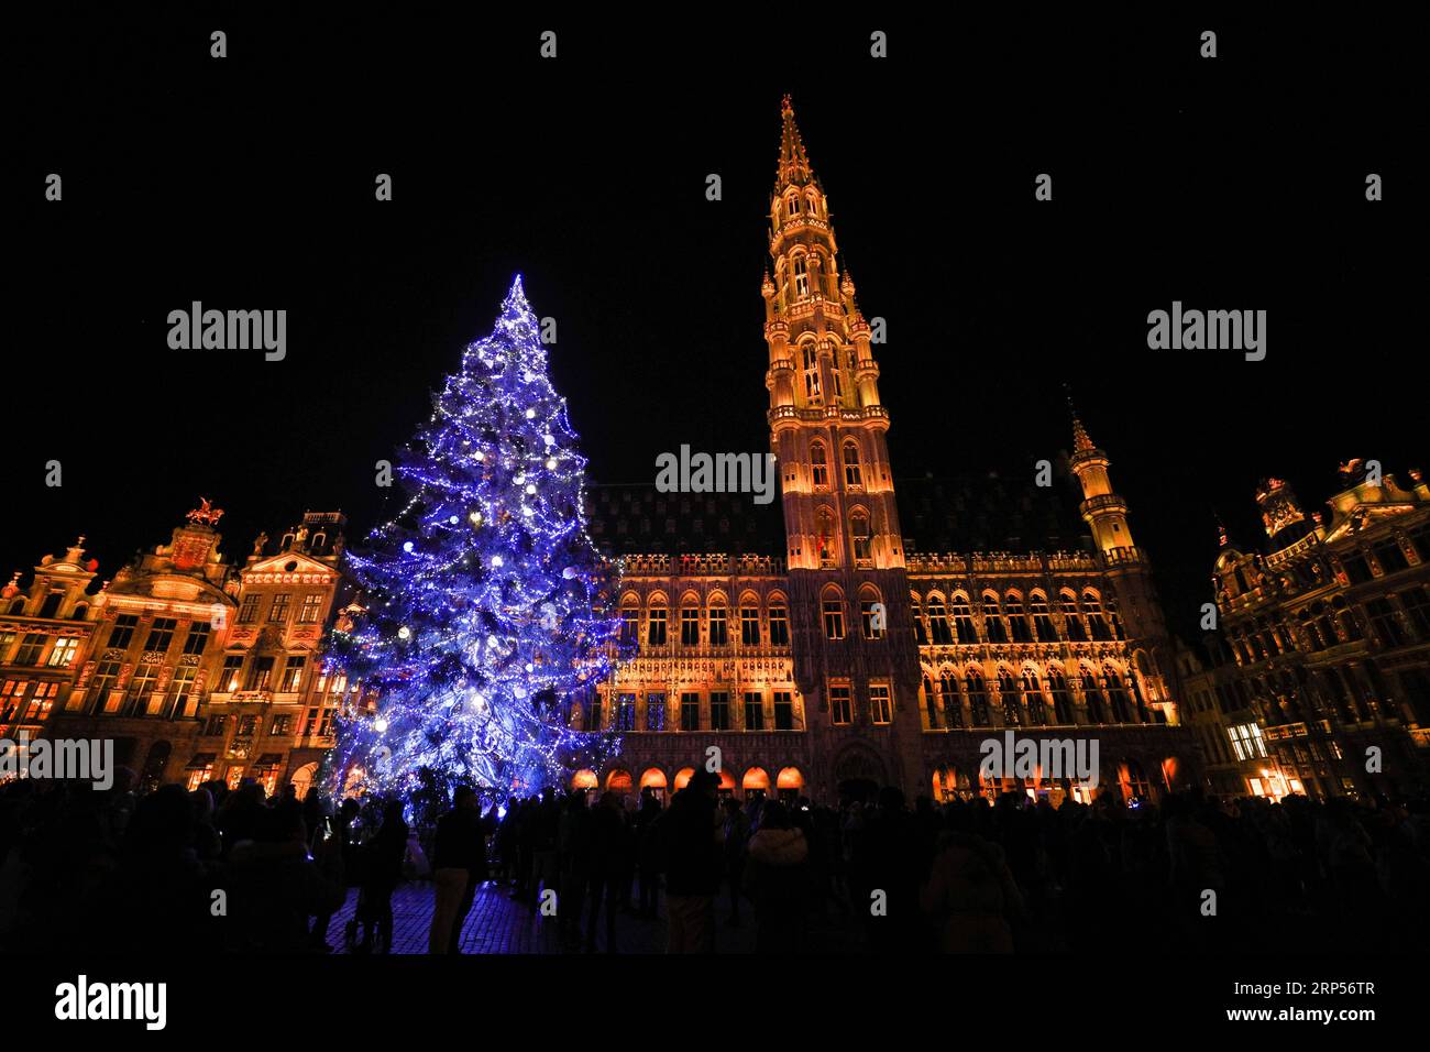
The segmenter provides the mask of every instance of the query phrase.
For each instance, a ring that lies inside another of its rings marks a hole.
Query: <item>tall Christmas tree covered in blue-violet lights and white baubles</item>
[[[466,781],[505,800],[612,753],[612,736],[569,726],[621,624],[585,528],[585,467],[518,276],[393,465],[406,507],[350,555],[366,613],[332,653],[380,700],[339,720],[342,787]]]

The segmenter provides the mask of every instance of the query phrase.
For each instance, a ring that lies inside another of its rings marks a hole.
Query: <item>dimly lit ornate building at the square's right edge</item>
[[[1211,667],[1193,707],[1224,739],[1218,792],[1313,797],[1404,792],[1430,749],[1430,485],[1341,468],[1330,521],[1281,479],[1256,500],[1266,552],[1226,534],[1216,562]]]

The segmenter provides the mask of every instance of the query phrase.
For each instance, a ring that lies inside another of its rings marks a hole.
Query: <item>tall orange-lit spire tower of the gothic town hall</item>
[[[785,96],[761,292],[795,681],[821,784],[919,766],[918,648],[869,323]]]

